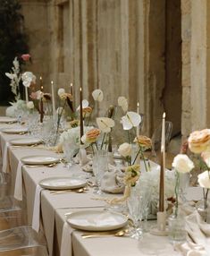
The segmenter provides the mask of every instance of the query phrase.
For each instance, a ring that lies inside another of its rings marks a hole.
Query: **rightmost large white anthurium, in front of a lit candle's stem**
[[[137,127],[141,123],[141,116],[136,112],[127,112],[122,116],[123,130],[130,130],[133,127]]]

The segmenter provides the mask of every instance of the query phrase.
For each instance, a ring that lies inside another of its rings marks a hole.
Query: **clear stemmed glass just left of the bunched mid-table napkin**
[[[95,193],[102,194],[101,191],[101,180],[105,171],[108,170],[108,152],[105,149],[97,150],[95,156],[93,157],[93,173],[97,181],[97,191]]]

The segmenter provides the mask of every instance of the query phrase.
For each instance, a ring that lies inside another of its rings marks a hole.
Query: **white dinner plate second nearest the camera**
[[[86,181],[70,177],[51,177],[41,180],[39,185],[49,190],[68,190],[84,187]]]

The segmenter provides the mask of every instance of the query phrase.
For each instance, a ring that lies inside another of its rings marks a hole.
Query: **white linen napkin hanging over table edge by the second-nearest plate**
[[[34,199],[34,209],[33,209],[33,218],[32,218],[32,228],[35,231],[39,231],[40,226],[40,197],[43,188],[37,185]]]

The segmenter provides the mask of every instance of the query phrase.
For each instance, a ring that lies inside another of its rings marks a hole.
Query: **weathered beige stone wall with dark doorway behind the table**
[[[154,132],[164,111],[176,124],[174,133],[180,132],[180,67],[173,66],[172,72],[165,68],[165,36],[179,36],[179,30],[172,30],[174,21],[171,28],[165,26],[166,8],[179,14],[179,6],[167,7],[168,2],[172,5],[171,0],[21,0],[33,56],[31,70],[44,76],[46,90],[50,80],[55,89],[69,89],[72,82],[76,104],[80,87],[90,102],[92,90],[104,90],[99,115],[116,104],[118,96],[125,96],[130,110],[136,110],[139,101],[146,117],[144,133]],[[172,47],[170,57],[175,59],[179,49]]]

